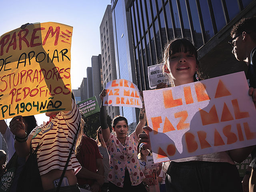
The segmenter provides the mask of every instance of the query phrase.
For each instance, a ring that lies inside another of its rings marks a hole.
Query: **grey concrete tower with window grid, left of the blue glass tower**
[[[100,40],[101,40],[101,63],[102,63],[102,76],[103,76],[103,87],[109,81],[116,78],[116,58],[114,50],[114,34],[113,34],[113,22],[111,14],[111,5],[108,5],[102,22],[100,24]],[[108,115],[111,118],[119,115],[119,107],[109,106],[107,107]]]

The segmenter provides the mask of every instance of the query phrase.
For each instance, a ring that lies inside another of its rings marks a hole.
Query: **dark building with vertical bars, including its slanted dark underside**
[[[238,20],[256,15],[255,0],[128,0],[122,11],[129,12],[132,22],[139,89],[149,89],[147,67],[160,63],[166,41],[176,37],[194,42],[206,77],[246,69],[232,54],[228,40]]]

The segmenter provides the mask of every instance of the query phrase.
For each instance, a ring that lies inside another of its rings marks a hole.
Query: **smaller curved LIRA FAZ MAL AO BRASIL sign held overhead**
[[[106,84],[107,95],[104,106],[124,106],[142,108],[142,101],[138,87],[124,79],[116,79]]]

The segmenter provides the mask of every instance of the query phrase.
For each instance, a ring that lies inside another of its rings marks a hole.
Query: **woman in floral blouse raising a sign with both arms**
[[[100,99],[103,101],[106,90],[102,90]],[[146,189],[142,184],[145,176],[140,168],[137,158],[138,134],[142,133],[142,128],[146,124],[146,114],[143,107],[140,110],[140,121],[132,134],[128,136],[128,122],[123,116],[116,116],[112,121],[114,134],[110,133],[107,124],[106,106],[103,102],[100,108],[100,124],[103,140],[106,143],[110,158],[108,181],[109,191],[140,191]]]

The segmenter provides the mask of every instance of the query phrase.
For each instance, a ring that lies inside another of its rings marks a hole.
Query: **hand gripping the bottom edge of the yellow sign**
[[[9,127],[12,134],[14,134],[15,136],[19,138],[24,138],[26,136],[25,124],[22,121],[21,115],[12,118],[12,120],[10,121]]]

